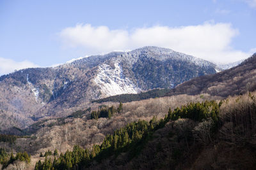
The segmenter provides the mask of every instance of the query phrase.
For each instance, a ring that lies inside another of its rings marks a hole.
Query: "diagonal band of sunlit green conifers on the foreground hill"
[[[212,130],[216,128],[219,121],[221,103],[215,101],[205,101],[204,103],[189,103],[181,108],[169,110],[166,117],[157,120],[153,117],[150,122],[140,120],[127,124],[125,127],[116,130],[113,134],[109,134],[104,139],[101,145],[93,145],[92,150],[83,149],[79,146],[74,146],[73,151],[67,151],[60,155],[55,155],[54,158],[47,157],[52,155],[45,153],[45,160],[36,162],[35,169],[81,169],[84,167],[93,166],[93,162],[102,162],[104,159],[114,155],[117,157],[120,153],[128,153],[128,161],[140,154],[146,143],[153,138],[154,132],[161,129],[169,121],[177,120],[178,118],[191,118],[196,122],[202,122],[211,118]],[[104,111],[111,109],[104,109]],[[49,153],[49,152],[48,152]]]

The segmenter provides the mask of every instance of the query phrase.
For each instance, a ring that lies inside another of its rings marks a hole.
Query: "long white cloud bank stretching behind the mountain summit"
[[[201,25],[167,27],[156,25],[127,31],[106,26],[78,24],[60,32],[67,46],[83,47],[88,54],[128,50],[142,46],[161,46],[214,62],[233,62],[248,57],[250,52],[235,50],[232,38],[239,31],[228,23],[205,22]]]

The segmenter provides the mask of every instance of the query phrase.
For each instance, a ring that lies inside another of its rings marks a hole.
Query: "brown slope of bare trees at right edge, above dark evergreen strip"
[[[255,79],[256,53],[236,67],[186,81],[172,89],[167,95],[206,93],[211,96],[234,96],[256,90]]]

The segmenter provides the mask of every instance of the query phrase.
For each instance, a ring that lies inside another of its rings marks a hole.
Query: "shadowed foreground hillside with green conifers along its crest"
[[[255,123],[251,93],[219,103],[189,103],[170,108],[160,120],[127,124],[91,150],[74,146],[72,152],[49,155],[35,169],[252,169]]]

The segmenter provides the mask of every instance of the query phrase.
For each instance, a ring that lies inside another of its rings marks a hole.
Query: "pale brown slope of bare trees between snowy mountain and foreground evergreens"
[[[202,102],[205,99],[215,100],[220,98],[205,96],[202,99],[199,95],[180,95],[124,103],[120,113],[115,113],[111,118],[101,117],[98,120],[91,118],[89,110],[76,111],[65,118],[39,120],[30,125],[28,129],[22,129],[20,134],[17,134],[20,137],[15,140],[15,143],[1,142],[0,136],[0,148],[5,148],[9,153],[12,151],[13,153],[28,152],[31,154],[30,167],[35,167],[35,161],[45,159],[39,157],[40,152],[44,154],[47,150],[53,152],[57,149],[59,153],[64,153],[67,150],[72,150],[74,145],[92,148],[94,144],[102,143],[106,135],[112,134],[116,129],[122,128],[128,123],[137,122],[138,120],[149,121],[153,116],[161,118],[168,113],[169,107],[175,108],[190,101]],[[118,107],[118,103],[108,103],[108,106],[112,104],[116,108]],[[98,104],[97,106],[100,108],[103,105]]]

